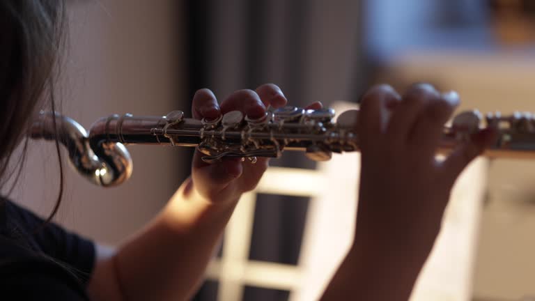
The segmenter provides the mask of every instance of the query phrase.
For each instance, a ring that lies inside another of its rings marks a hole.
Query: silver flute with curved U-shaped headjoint
[[[303,151],[311,160],[324,161],[332,153],[359,150],[359,111],[344,111],[334,121],[334,110],[283,107],[261,118],[229,111],[215,120],[185,118],[183,111],[166,116],[111,115],[95,121],[89,132],[76,121],[41,111],[30,129],[33,139],[57,139],[68,151],[72,166],[92,183],[119,185],[132,174],[132,158],[125,145],[195,146],[203,160],[223,157],[280,157],[283,151]],[[535,118],[516,112],[483,118],[478,111],[463,111],[444,125],[438,152],[449,152],[482,128],[493,127],[497,139],[486,149],[488,157],[535,158]]]

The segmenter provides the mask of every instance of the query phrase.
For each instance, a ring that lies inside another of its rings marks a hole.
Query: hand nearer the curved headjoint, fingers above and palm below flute
[[[266,107],[284,107],[286,102],[281,89],[274,84],[264,84],[256,91],[235,91],[221,105],[212,91],[201,89],[193,98],[192,114],[197,119],[213,120],[220,114],[238,110],[251,118],[259,118],[265,114]],[[320,109],[321,104],[316,102],[307,108]],[[243,192],[256,187],[269,165],[266,157],[258,157],[255,164],[249,160],[242,162],[239,157],[226,157],[221,162],[208,164],[201,160],[202,156],[202,153],[195,151],[192,179],[195,190],[211,202],[238,200]]]

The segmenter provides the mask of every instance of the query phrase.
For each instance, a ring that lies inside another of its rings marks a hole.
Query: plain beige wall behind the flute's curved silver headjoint
[[[62,111],[84,127],[108,114],[164,115],[180,109],[184,79],[179,2],[68,1],[70,40],[64,57]],[[52,144],[33,143],[13,199],[47,214],[58,192]],[[187,160],[173,148],[131,146],[132,178],[103,189],[65,169],[65,196],[56,218],[71,229],[116,242],[155,215],[180,184]]]

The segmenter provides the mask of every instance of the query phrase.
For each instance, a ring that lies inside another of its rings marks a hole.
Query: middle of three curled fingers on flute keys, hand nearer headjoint
[[[239,90],[232,93],[221,103],[221,111],[242,111],[251,118],[261,118],[265,114],[265,106],[258,94],[252,90]]]

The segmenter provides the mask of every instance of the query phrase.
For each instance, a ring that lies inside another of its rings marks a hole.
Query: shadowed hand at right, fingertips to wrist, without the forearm
[[[457,93],[441,94],[428,84],[412,86],[403,97],[387,85],[364,95],[356,238],[366,243],[362,247],[402,256],[431,251],[456,178],[493,139],[490,130],[479,132],[437,160],[444,123],[458,104]]]

